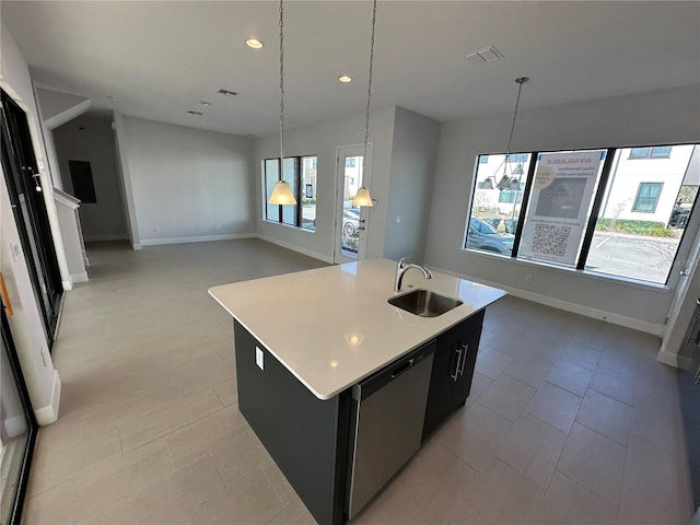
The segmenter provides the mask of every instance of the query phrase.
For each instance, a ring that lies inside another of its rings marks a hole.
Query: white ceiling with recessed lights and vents
[[[284,3],[287,129],[364,114],[371,12],[370,1]],[[0,15],[36,82],[93,107],[236,135],[279,129],[276,1],[2,0]],[[266,46],[246,47],[252,36]],[[462,58],[490,45],[504,58]],[[343,73],[354,81],[338,82]],[[509,113],[522,75],[524,109],[698,84],[700,2],[378,2],[373,107],[439,121]]]

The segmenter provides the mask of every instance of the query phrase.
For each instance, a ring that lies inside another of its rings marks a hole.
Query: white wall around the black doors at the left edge
[[[3,22],[0,22],[0,84],[9,92],[11,91],[11,93],[9,93],[10,95],[16,95],[24,107],[28,109],[27,119],[30,120],[30,127],[33,129],[32,142],[36,151],[40,152],[44,150],[44,145],[40,133],[37,132],[37,130],[40,129],[40,124],[34,101],[30,70],[12,34]],[[39,172],[42,172],[42,170],[39,170]],[[42,175],[43,182],[50,178],[46,172],[43,172]],[[52,202],[52,187],[47,188],[45,192],[47,194],[45,197],[50,198]],[[57,256],[59,261],[62,261],[62,269],[67,273],[68,265],[66,256],[62,252],[58,253],[58,246],[62,248],[62,243],[60,243],[60,230],[58,229],[56,209],[48,208],[49,219],[51,210],[54,212],[51,230],[55,244],[57,244]],[[8,189],[4,184],[4,174],[1,167],[0,215],[0,269],[15,311],[14,315],[9,318],[10,329],[15,340],[18,355],[22,364],[24,380],[34,412],[37,416],[39,424],[48,424],[58,417],[59,399],[56,393],[60,392],[60,380],[46,348],[39,306],[32,289],[26,258],[22,252],[18,228],[10,207]],[[57,237],[59,243],[56,243]],[[16,257],[11,254],[11,250],[15,249],[20,254]],[[63,276],[63,271],[61,271],[61,276]],[[59,390],[57,390],[57,386]]]

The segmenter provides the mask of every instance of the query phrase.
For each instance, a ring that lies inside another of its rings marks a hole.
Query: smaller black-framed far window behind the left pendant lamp
[[[265,219],[267,221],[316,231],[316,165],[315,155],[284,158],[284,180],[289,183],[298,205],[278,206],[268,205],[267,201],[279,179],[280,160],[264,161]]]

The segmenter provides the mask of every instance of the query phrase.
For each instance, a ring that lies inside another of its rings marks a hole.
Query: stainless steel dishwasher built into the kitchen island
[[[350,520],[420,448],[434,352],[433,339],[352,387]]]

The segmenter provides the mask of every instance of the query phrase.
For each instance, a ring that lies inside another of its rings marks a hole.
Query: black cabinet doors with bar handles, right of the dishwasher
[[[485,311],[438,336],[423,441],[466,401],[471,389]]]

